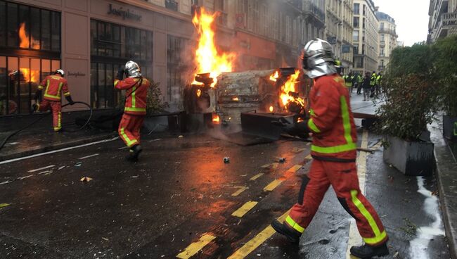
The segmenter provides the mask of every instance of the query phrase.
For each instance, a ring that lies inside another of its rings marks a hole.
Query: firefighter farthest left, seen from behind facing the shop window
[[[54,75],[44,77],[44,80],[39,84],[37,92],[35,93],[35,103],[32,105],[32,112],[52,110],[53,115],[53,128],[54,132],[62,130],[62,102],[60,95],[63,93],[70,105],[73,105],[72,96],[68,91],[67,80],[63,78],[65,72],[61,69],[57,70]],[[41,96],[41,91],[44,89],[43,101],[38,103],[38,98]]]

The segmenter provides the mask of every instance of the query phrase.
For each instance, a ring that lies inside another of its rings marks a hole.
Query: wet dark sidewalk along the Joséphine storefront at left
[[[75,118],[86,112],[72,112],[62,114],[62,125],[69,130],[77,129]],[[94,113],[95,114],[95,113]],[[0,143],[11,133],[37,120],[42,115],[24,115],[0,118]],[[117,136],[116,132],[83,129],[78,132],[53,132],[51,115],[39,120],[30,128],[15,134],[8,139],[3,149],[0,149],[0,161],[36,153],[63,149]]]

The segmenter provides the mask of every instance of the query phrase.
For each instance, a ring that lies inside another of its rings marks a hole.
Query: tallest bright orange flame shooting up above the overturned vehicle
[[[235,53],[219,52],[214,44],[214,19],[219,13],[206,13],[205,8],[195,12],[192,23],[198,32],[198,49],[195,51],[197,73],[210,72],[210,77],[214,80],[211,87],[217,83],[217,76],[221,72],[231,72]],[[193,84],[195,81],[193,82]]]

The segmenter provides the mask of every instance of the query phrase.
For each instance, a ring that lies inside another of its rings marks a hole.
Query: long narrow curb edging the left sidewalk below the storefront
[[[84,139],[76,139],[76,140],[73,140],[73,141],[65,141],[65,142],[59,143],[59,144],[51,144],[51,145],[48,145],[48,146],[37,146],[34,149],[29,149],[29,150],[26,150],[26,151],[20,151],[18,153],[0,155],[0,162],[4,161],[4,160],[14,159],[14,158],[21,158],[23,156],[32,156],[32,155],[35,155],[37,153],[44,153],[44,152],[47,152],[47,151],[54,151],[56,149],[65,149],[65,148],[70,147],[70,146],[78,146],[78,145],[87,144],[87,143],[94,142],[94,141],[100,141],[100,140],[103,140],[103,139],[111,139],[112,137],[115,137],[115,136],[117,136],[117,134],[115,134],[115,133],[101,134],[101,135],[97,135],[97,136],[86,137]]]

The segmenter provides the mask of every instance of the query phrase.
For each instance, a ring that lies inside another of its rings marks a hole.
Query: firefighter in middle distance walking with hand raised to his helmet
[[[124,73],[127,78],[123,80]],[[146,96],[149,80],[141,76],[140,68],[134,61],[128,61],[120,68],[114,81],[116,89],[125,91],[124,115],[119,125],[119,136],[129,146],[130,154],[127,160],[138,160],[141,153],[140,130],[146,115]]]

